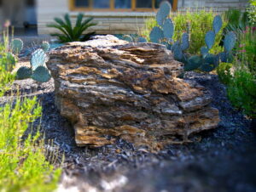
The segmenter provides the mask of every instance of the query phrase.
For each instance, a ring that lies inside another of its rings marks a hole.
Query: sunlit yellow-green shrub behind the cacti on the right
[[[186,12],[186,13],[172,13],[170,15],[175,25],[175,32],[173,40],[177,41],[181,39],[184,31],[189,31],[190,46],[187,52],[189,54],[200,54],[200,48],[205,46],[205,35],[207,31],[212,30],[212,21],[215,14],[212,11],[201,10],[198,12]],[[222,38],[222,32],[226,26],[224,22],[222,29],[218,32],[216,42],[211,49],[212,54],[217,54],[223,51],[223,48],[219,46],[219,42]],[[145,26],[140,31],[140,35],[146,37],[149,41],[150,31],[154,26],[157,26],[154,18],[148,18],[145,20]]]

